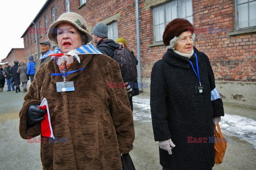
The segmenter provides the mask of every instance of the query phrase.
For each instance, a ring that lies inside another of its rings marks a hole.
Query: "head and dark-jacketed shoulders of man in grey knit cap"
[[[97,44],[97,49],[109,57],[114,57],[114,52],[116,48],[120,45],[117,44],[113,39],[108,39],[108,26],[105,23],[97,23],[92,30],[92,37],[94,42]],[[104,46],[108,45],[110,47]]]

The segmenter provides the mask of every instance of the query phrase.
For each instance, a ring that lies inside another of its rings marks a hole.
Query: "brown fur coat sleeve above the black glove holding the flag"
[[[41,67],[38,70],[38,73],[31,83],[29,87],[29,92],[24,97],[24,103],[21,108],[19,117],[20,117],[20,125],[19,131],[20,136],[23,139],[28,139],[32,137],[36,137],[37,135],[41,134],[41,123],[36,123],[34,126],[29,126],[27,123],[27,111],[28,107],[32,104],[40,104],[41,103],[41,87],[44,80],[44,75],[46,74],[44,71],[44,67]]]

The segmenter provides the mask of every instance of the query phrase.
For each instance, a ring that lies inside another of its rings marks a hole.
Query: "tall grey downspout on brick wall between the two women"
[[[139,0],[135,0],[136,8],[136,35],[137,35],[137,56],[138,56],[138,83],[141,89],[141,62],[140,62],[140,20],[139,20]]]

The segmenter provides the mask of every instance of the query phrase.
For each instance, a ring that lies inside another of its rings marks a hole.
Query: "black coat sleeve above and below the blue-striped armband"
[[[213,70],[212,70],[212,66],[209,58],[206,55],[205,57],[206,57],[207,67],[209,68],[208,74],[209,74],[210,86],[211,86],[211,90],[213,90],[214,88],[216,88],[214,74],[213,74]],[[213,100],[212,107],[214,111],[213,117],[224,116],[223,102],[221,98]]]

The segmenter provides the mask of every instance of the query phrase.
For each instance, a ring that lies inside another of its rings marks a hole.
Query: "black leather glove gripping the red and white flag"
[[[39,109],[38,104],[30,105],[28,107],[28,115],[27,115],[28,124],[31,125],[37,122],[41,122],[42,120],[44,120],[44,114],[46,112],[47,111],[43,109]]]

